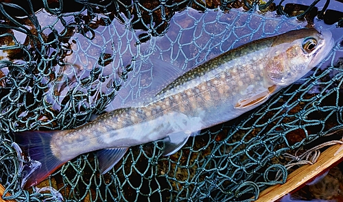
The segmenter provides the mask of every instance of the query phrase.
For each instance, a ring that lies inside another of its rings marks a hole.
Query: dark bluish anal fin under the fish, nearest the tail
[[[110,171],[110,169],[121,160],[127,150],[128,148],[113,148],[97,151],[96,155],[99,160],[100,172],[105,174]]]

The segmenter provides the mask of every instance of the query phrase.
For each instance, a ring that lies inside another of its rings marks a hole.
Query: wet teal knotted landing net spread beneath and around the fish
[[[261,190],[285,182],[285,153],[343,125],[343,11],[335,3],[0,1],[3,199],[257,199]],[[251,40],[302,27],[331,30],[333,51],[259,108],[203,130],[169,157],[161,141],[130,147],[100,175],[97,157],[86,153],[38,186],[21,188],[24,171],[12,132],[75,128],[139,99],[150,89],[152,68],[164,68],[146,62],[150,58],[187,71]]]

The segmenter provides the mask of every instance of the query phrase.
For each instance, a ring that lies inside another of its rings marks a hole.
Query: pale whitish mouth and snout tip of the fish
[[[309,63],[309,68],[314,68],[314,66],[317,66],[317,64],[322,62],[322,60],[329,55],[333,45],[335,44],[331,31],[325,29],[320,30],[320,41],[320,48],[318,51],[316,51],[316,53],[314,53],[314,60]]]

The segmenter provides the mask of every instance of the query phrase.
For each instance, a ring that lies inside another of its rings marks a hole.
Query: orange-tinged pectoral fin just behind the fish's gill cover
[[[268,89],[261,91],[259,93],[248,93],[248,97],[244,99],[239,99],[238,103],[236,103],[236,109],[244,109],[248,108],[253,105],[257,105],[259,103],[265,102],[271,94],[273,94],[278,87],[276,85],[270,86]]]

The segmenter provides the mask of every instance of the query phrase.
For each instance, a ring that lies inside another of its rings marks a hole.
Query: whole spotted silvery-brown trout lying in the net
[[[200,130],[256,108],[303,77],[327,57],[333,45],[328,30],[298,29],[261,38],[226,51],[164,86],[154,77],[153,82],[163,86],[156,94],[75,129],[14,133],[19,147],[41,163],[25,179],[24,188],[83,153],[95,152],[102,174],[135,145],[163,140],[163,155],[176,153]],[[154,71],[165,73],[163,68]]]

